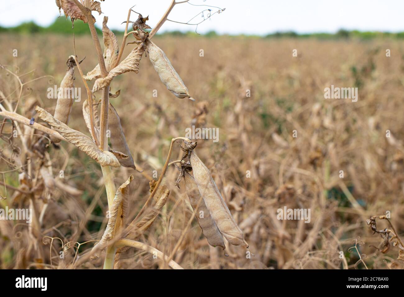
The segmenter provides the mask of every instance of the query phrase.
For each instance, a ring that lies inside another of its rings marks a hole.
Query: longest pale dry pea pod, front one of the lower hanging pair
[[[231,216],[229,208],[217,189],[209,169],[196,155],[194,150],[189,151],[189,162],[192,166],[192,172],[194,173],[198,190],[204,199],[206,208],[215,220],[219,231],[231,244],[248,247],[240,228]]]

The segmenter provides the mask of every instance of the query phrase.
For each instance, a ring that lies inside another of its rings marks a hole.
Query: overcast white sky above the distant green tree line
[[[226,8],[221,14],[198,27],[198,32],[215,30],[227,34],[265,35],[276,31],[293,30],[299,33],[336,32],[340,28],[399,32],[404,31],[403,0],[190,0],[193,4],[206,4]],[[170,0],[105,0],[101,8],[109,17],[108,26],[124,29],[128,8],[149,15],[153,27]],[[175,21],[189,21],[202,11],[202,6],[178,4],[170,14]],[[213,12],[217,8],[212,8]],[[49,25],[59,15],[55,0],[0,0],[0,25],[15,26],[23,21]],[[97,25],[103,15],[93,12]],[[205,14],[206,15],[206,14]],[[135,16],[132,20],[135,20]],[[197,19],[200,19],[198,17]],[[194,30],[194,26],[166,22],[162,31]]]

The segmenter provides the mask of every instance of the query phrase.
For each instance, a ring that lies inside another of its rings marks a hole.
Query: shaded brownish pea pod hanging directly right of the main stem
[[[119,118],[118,112],[116,112],[114,106],[109,103],[108,112],[108,129],[111,131],[111,144],[114,150],[118,150],[128,156],[126,159],[121,159],[119,162],[124,167],[130,167],[136,169],[135,162],[133,161],[132,154],[128,143],[126,143],[124,131],[122,130],[121,120]]]

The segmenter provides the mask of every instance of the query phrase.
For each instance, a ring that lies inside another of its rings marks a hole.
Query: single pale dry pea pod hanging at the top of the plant
[[[175,71],[173,65],[171,65],[170,60],[168,60],[166,54],[152,41],[147,40],[147,52],[149,53],[149,58],[153,64],[154,70],[156,70],[160,80],[166,86],[168,91],[173,93],[178,98],[191,98],[189,91],[185,86],[183,80]]]

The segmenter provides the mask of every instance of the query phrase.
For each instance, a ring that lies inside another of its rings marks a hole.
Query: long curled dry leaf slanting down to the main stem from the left
[[[90,139],[90,137],[84,135],[80,131],[76,131],[66,124],[60,122],[53,118],[53,116],[46,112],[39,106],[35,107],[38,112],[38,116],[50,124],[60,135],[65,137],[67,141],[78,147],[82,152],[84,152],[90,158],[93,158],[101,166],[114,166],[119,167],[119,161],[111,152],[101,151],[97,145]]]

